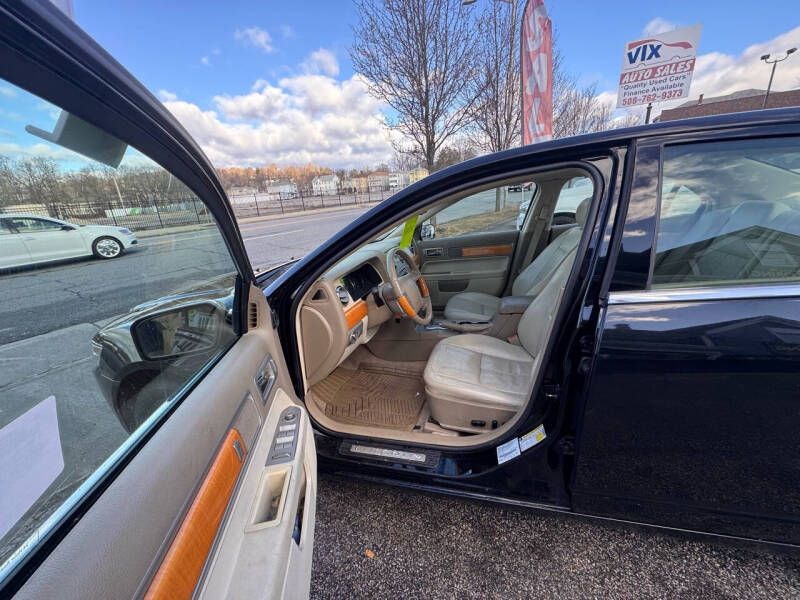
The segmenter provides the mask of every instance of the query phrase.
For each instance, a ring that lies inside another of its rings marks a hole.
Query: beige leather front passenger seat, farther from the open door
[[[512,296],[536,296],[542,291],[550,276],[578,246],[590,203],[591,198],[586,198],[575,209],[577,227],[559,235],[522,270],[511,287]],[[497,296],[462,292],[447,301],[444,316],[450,321],[491,321],[499,306],[500,298]]]

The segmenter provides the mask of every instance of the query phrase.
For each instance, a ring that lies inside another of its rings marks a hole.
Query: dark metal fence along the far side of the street
[[[364,206],[381,202],[392,192],[364,192],[335,195],[250,194],[229,200],[237,219],[287,214],[339,206]],[[163,229],[180,225],[206,225],[213,219],[206,206],[191,195],[160,199],[119,198],[90,202],[24,204],[0,206],[0,213],[40,214],[78,225],[113,225],[133,231]]]

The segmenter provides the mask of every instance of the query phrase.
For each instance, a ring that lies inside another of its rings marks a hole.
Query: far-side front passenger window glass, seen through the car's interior
[[[462,198],[425,221],[422,238],[514,231],[518,229],[518,216],[522,213],[524,218],[535,189],[535,184],[527,182],[503,185]]]

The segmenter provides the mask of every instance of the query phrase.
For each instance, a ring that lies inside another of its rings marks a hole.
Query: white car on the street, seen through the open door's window
[[[116,258],[137,243],[136,235],[124,227],[0,214],[0,269],[80,256]]]

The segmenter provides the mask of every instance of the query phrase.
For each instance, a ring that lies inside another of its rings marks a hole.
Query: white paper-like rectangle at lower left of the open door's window
[[[0,429],[0,537],[63,470],[56,398],[50,396]]]

